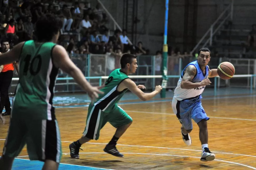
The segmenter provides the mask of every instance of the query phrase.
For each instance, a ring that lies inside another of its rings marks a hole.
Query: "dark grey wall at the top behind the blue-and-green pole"
[[[193,3],[192,0],[189,1]],[[96,0],[91,1],[91,5],[94,6],[96,2]],[[119,26],[122,27],[123,0],[101,0],[101,2],[115,18]],[[230,2],[231,0],[198,0],[197,42]],[[183,50],[185,0],[172,0],[169,3],[168,44],[178,46]],[[139,34],[137,42],[142,41],[150,49],[151,53],[155,53],[155,51],[162,48],[165,1],[138,0],[138,4],[138,19],[140,19],[140,23],[137,25]],[[250,29],[250,25],[254,22],[256,23],[255,11],[255,0],[234,0],[234,26]],[[189,11],[189,15],[190,13],[192,15],[193,11]],[[192,17],[189,16],[189,19],[192,19]],[[191,21],[188,21],[188,23],[191,24]],[[113,23],[110,22],[108,27],[113,29]],[[189,26],[188,29],[190,28]],[[188,34],[188,36],[191,36],[191,34]],[[191,49],[194,46],[195,44],[191,44],[189,48]]]

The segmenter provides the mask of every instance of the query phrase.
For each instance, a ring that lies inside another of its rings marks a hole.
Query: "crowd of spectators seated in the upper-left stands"
[[[111,53],[120,56],[122,53],[149,53],[142,42],[138,42],[137,46],[129,43],[126,30],[115,30],[114,35],[110,36],[106,27],[109,19],[100,4],[89,6],[88,2],[77,1],[58,4],[47,0],[3,1],[0,10],[1,36],[8,37],[11,45],[33,39],[37,19],[43,14],[52,13],[62,18],[63,27],[58,43],[70,54]],[[81,35],[80,41],[78,33]]]

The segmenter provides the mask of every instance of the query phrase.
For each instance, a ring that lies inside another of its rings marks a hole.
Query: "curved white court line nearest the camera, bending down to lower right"
[[[173,154],[130,153],[130,152],[122,152],[122,153],[123,154],[142,154],[142,155],[157,155],[157,156],[187,157],[187,158],[199,158],[199,159],[201,158],[201,157],[195,157],[195,156],[182,156],[182,155],[173,155]],[[68,155],[70,153],[62,153],[62,154]],[[107,153],[106,152],[80,152],[79,154],[107,154]],[[17,158],[17,159],[19,159],[19,158]],[[29,160],[29,159],[25,159],[25,160]],[[244,166],[244,167],[247,167],[247,168],[256,169],[255,167],[252,167],[252,166],[249,166],[249,165],[245,165],[245,164],[242,164],[242,163],[237,163],[237,162],[224,161],[224,160],[220,160],[220,159],[214,159],[214,161],[220,161],[220,162],[225,162],[225,163],[230,163],[230,164],[236,164],[236,165]],[[70,165],[73,165],[73,164],[70,164]],[[103,169],[103,168],[100,168],[100,169]]]

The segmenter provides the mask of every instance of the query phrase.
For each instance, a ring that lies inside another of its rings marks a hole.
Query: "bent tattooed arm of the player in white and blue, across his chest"
[[[211,82],[208,78],[202,80],[201,82],[193,83],[192,80],[195,77],[196,73],[197,73],[196,67],[193,66],[193,65],[189,65],[185,69],[185,74],[182,77],[181,88],[183,88],[183,89],[192,89],[192,88],[201,87],[201,86],[211,84]]]

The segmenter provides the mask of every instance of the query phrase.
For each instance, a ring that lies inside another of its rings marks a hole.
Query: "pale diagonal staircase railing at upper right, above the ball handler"
[[[219,29],[221,28],[221,26],[226,22],[226,20],[230,17],[231,20],[233,20],[233,6],[234,6],[234,0],[231,0],[231,3],[229,4],[229,6],[226,7],[226,9],[220,14],[220,16],[216,19],[216,21],[211,25],[211,27],[206,31],[206,33],[203,35],[203,37],[199,40],[199,42],[196,44],[196,46],[192,49],[192,51],[190,52],[190,54],[192,54],[193,52],[195,52],[195,50],[198,48],[198,46],[202,43],[202,41],[204,41],[206,39],[206,36],[208,34],[209,37],[206,40],[206,42],[203,44],[202,48],[205,47],[208,43],[209,46],[212,46],[212,38],[215,35],[215,33],[217,31],[219,31]],[[228,13],[226,13],[228,12]],[[224,14],[227,14],[225,16],[225,18],[222,20],[221,23],[219,23],[219,25],[217,25],[217,22],[223,18]],[[217,26],[215,28],[215,26]],[[214,29],[215,28],[215,29]]]

